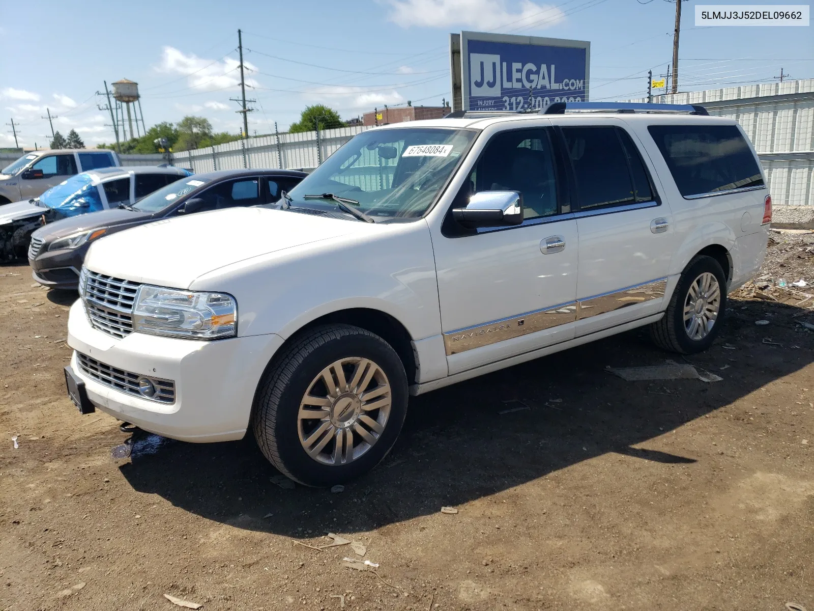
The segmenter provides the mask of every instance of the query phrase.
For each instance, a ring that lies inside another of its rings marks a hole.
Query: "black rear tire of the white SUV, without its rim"
[[[694,340],[689,336],[685,328],[684,304],[690,286],[698,276],[704,273],[710,273],[718,280],[718,286],[720,287],[720,306],[715,323],[707,335],[701,339]],[[678,281],[676,290],[672,293],[670,304],[667,306],[667,311],[663,318],[650,324],[650,339],[653,340],[654,344],[659,346],[659,348],[670,352],[677,352],[679,354],[702,352],[709,348],[718,336],[720,325],[726,311],[726,305],[726,275],[724,275],[724,270],[716,259],[707,257],[706,255],[699,255],[689,262],[681,273],[681,278]]]

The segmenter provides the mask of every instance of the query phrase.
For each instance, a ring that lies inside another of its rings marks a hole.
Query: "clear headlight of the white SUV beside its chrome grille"
[[[234,337],[238,304],[222,292],[179,291],[142,284],[133,306],[133,331],[217,340]]]

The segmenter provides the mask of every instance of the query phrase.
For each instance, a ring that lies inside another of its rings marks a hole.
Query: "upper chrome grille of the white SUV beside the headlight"
[[[133,302],[140,286],[137,282],[85,269],[80,290],[90,324],[114,337],[121,338],[132,333]]]

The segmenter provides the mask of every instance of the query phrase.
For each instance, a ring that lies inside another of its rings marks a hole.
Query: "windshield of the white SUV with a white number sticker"
[[[330,193],[374,218],[417,218],[429,209],[475,138],[472,130],[397,128],[358,134],[290,192],[292,208],[336,212]]]

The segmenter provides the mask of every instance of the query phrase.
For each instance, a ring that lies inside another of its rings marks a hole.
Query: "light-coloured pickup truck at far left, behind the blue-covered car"
[[[0,205],[39,197],[50,187],[90,169],[120,165],[119,156],[98,149],[30,152],[0,170]]]

